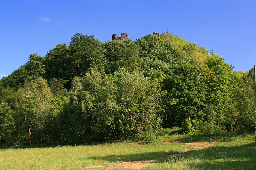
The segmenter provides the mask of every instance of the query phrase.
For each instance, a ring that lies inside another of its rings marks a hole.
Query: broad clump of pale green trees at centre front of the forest
[[[147,126],[159,128],[157,88],[142,75],[124,69],[103,77],[90,68],[84,78],[75,77],[69,116],[77,140],[120,138],[144,132]]]

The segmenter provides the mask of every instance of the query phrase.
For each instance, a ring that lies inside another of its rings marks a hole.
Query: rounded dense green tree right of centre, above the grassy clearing
[[[207,92],[201,71],[204,70],[181,61],[170,67],[168,76],[163,80],[167,90],[167,114],[175,115],[175,121],[180,122],[187,117],[202,119]]]

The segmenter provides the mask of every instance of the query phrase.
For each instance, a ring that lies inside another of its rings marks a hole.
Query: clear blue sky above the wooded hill
[[[121,32],[135,41],[153,32],[179,35],[225,58],[236,71],[256,64],[256,1],[27,0],[0,3],[0,78],[45,56],[75,33],[105,42]]]

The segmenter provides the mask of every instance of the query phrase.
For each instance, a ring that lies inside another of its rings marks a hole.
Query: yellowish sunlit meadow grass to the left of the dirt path
[[[104,144],[0,150],[0,169],[82,169],[124,161],[158,159],[181,152],[180,144]],[[103,168],[104,169],[104,168]]]

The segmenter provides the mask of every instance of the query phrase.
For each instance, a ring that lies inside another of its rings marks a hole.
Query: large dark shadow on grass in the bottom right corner
[[[223,142],[202,150],[194,150],[167,159],[183,162],[191,169],[255,169],[256,143]]]

